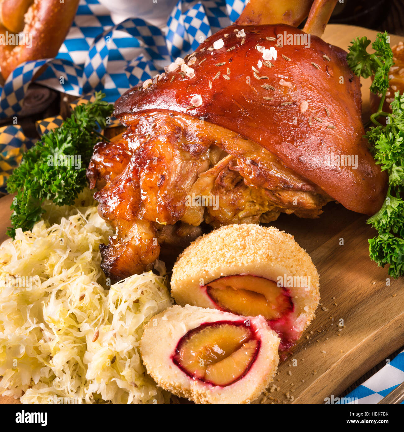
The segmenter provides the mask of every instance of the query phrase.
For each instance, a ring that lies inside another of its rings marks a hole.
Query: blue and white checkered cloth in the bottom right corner
[[[404,382],[404,351],[347,394],[347,400],[341,400],[341,403],[378,403],[402,382]]]

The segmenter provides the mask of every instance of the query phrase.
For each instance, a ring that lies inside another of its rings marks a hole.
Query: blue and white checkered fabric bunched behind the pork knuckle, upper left
[[[32,77],[44,65],[48,67],[36,82],[76,96],[102,90],[108,102],[115,102],[127,89],[162,73],[176,57],[185,57],[234,22],[247,1],[178,0],[162,30],[140,18],[114,24],[98,0],[80,0],[57,57],[19,65],[0,88],[0,118],[18,114]]]

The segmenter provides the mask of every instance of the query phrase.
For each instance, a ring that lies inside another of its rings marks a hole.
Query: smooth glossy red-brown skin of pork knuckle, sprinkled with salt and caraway
[[[387,177],[363,138],[359,79],[347,65],[346,52],[313,35],[309,48],[303,43],[276,46],[279,34],[304,36],[289,25],[244,26],[243,44],[235,30],[227,27],[200,45],[194,54],[193,78],[177,69],[148,88],[135,87],[118,99],[115,115],[124,124],[130,118],[126,114],[148,109],[204,118],[268,149],[348,209],[376,213],[385,198]],[[223,48],[210,51],[219,39]],[[277,50],[277,59],[270,60],[274,66],[266,66],[257,46]],[[220,75],[214,79],[217,72]],[[195,94],[202,104],[190,108]],[[303,102],[308,108],[301,112]],[[358,166],[328,164],[331,154],[357,156]]]

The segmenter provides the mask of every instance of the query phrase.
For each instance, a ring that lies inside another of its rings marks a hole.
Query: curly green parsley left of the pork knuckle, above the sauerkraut
[[[32,229],[44,213],[44,200],[52,200],[59,206],[71,205],[86,186],[86,166],[92,149],[100,137],[106,140],[97,130],[106,127],[113,110],[113,105],[102,100],[104,97],[97,92],[94,102],[77,105],[62,126],[49,131],[24,154],[21,164],[7,180],[7,191],[16,192],[8,235],[14,238],[17,228]],[[80,156],[80,164],[53,163],[73,161],[69,156],[77,156],[76,160]]]

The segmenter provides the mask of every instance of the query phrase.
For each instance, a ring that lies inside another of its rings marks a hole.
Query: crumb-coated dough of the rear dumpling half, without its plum
[[[172,271],[171,293],[179,305],[216,308],[203,286],[223,276],[252,274],[277,281],[279,276],[310,281],[288,286],[296,337],[308,327],[320,299],[319,275],[307,254],[287,234],[270,226],[228,225],[198,237],[179,255]],[[285,286],[285,285],[283,285]]]

